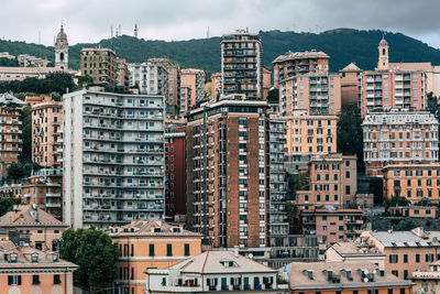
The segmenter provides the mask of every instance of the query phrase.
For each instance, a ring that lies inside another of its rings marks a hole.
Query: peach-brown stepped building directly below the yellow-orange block
[[[321,205],[354,205],[358,186],[355,155],[329,153],[311,156],[307,168],[300,171],[307,185],[297,190],[294,203],[305,209]]]

